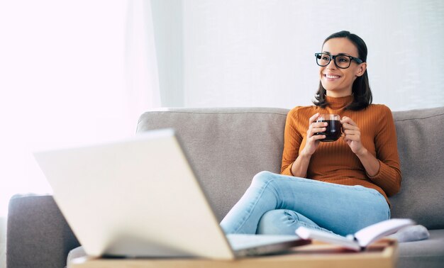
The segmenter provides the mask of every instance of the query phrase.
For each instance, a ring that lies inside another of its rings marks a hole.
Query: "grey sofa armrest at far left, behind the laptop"
[[[9,202],[6,267],[66,266],[77,238],[50,195],[16,195]]]

